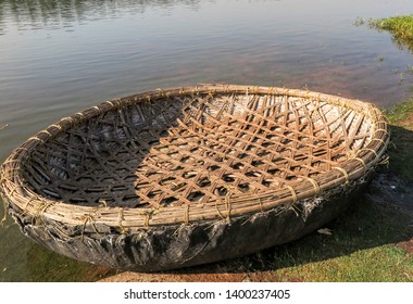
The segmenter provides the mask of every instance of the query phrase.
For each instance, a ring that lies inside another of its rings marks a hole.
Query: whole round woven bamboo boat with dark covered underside
[[[289,242],[338,216],[389,140],[372,104],[200,85],[111,100],[1,167],[22,231],[63,255],[154,271]]]

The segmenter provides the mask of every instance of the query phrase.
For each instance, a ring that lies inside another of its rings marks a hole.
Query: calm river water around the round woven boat
[[[0,162],[63,116],[154,88],[280,86],[397,104],[412,93],[412,53],[360,22],[412,13],[411,0],[0,0]],[[105,274],[41,249],[11,218],[0,228],[0,281]]]

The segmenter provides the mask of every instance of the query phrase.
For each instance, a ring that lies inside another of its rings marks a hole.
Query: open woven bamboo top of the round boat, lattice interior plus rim
[[[189,223],[349,182],[387,141],[380,112],[360,101],[264,87],[158,90],[40,131],[4,163],[2,186],[25,212],[72,224]]]

